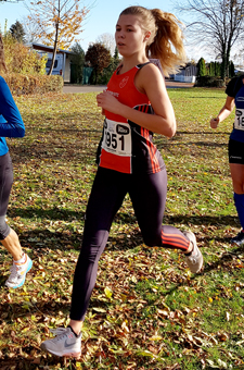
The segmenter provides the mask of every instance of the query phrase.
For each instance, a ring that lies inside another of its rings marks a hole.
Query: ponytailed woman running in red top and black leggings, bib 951
[[[105,121],[75,271],[70,322],[68,328],[57,329],[54,338],[41,344],[42,349],[56,356],[80,355],[80,329],[95,284],[98,262],[127,193],[147,246],[179,249],[192,272],[198,272],[203,266],[193,233],[162,226],[167,174],[152,143],[153,133],[167,137],[176,133],[164,77],[149,58],[160,60],[165,75],[182,63],[184,51],[177,18],[158,9],[130,7],[119,15],[115,39],[123,62],[107,89],[97,97]]]

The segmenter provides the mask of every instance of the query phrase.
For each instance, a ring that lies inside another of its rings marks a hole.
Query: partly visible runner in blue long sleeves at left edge
[[[3,42],[0,35],[0,73],[7,71]],[[0,76],[0,240],[13,257],[11,274],[5,282],[16,288],[24,284],[26,273],[31,269],[30,258],[22,250],[18,236],[5,222],[9,197],[13,184],[13,166],[5,137],[23,137],[25,126],[13,100],[9,86]]]

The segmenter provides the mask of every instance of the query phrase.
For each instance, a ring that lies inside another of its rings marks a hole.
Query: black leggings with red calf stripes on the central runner
[[[100,256],[127,193],[147,246],[181,250],[190,246],[189,239],[179,230],[162,226],[167,193],[166,170],[151,175],[134,175],[99,168],[88,201],[84,242],[74,276],[72,320],[85,319]]]

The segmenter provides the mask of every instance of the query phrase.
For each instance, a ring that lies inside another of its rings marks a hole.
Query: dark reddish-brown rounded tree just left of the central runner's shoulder
[[[107,67],[111,63],[110,50],[100,42],[90,45],[86,52],[86,62],[93,67],[97,84],[99,73],[101,73],[103,69]]]

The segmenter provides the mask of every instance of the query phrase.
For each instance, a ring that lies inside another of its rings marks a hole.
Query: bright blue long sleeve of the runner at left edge
[[[23,137],[25,125],[9,86],[0,76],[0,137]]]

